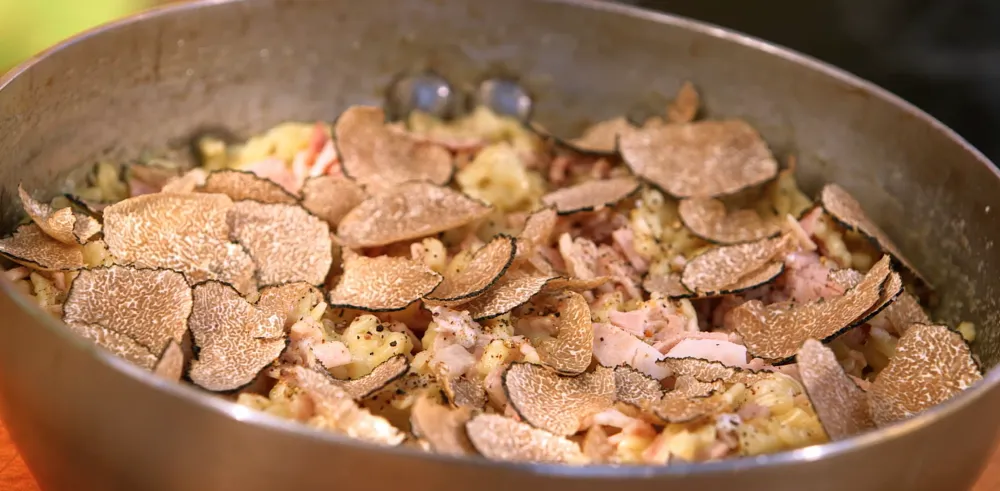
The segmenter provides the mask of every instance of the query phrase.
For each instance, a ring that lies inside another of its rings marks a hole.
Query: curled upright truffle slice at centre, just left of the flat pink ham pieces
[[[590,366],[594,359],[594,328],[590,320],[587,299],[567,292],[556,307],[556,335],[536,343],[538,357],[553,370],[576,375]]]

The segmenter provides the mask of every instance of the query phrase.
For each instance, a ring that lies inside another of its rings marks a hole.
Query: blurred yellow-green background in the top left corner
[[[0,0],[0,73],[80,31],[163,0]]]

